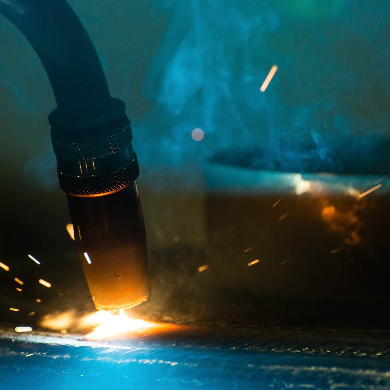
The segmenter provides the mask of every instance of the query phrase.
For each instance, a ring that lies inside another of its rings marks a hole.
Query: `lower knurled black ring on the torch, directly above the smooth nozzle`
[[[105,175],[75,177],[58,172],[60,187],[71,195],[97,195],[120,190],[132,184],[138,177],[137,156],[125,167]]]

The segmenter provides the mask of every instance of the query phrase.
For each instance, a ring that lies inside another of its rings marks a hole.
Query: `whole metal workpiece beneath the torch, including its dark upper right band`
[[[379,353],[337,356],[349,348],[351,337],[359,349],[373,351],[371,344],[376,344],[374,349],[383,351],[388,348],[386,336],[336,334],[214,328],[206,333],[138,336],[107,344],[72,335],[0,332],[0,383],[2,389],[23,382],[32,389],[68,390],[106,389],[113,383],[115,388],[138,389],[390,388],[388,358]],[[317,344],[322,338],[330,349],[312,352],[313,340]],[[298,339],[305,346],[301,350],[294,345]],[[283,349],[274,349],[277,340]],[[259,344],[263,347],[256,348]]]

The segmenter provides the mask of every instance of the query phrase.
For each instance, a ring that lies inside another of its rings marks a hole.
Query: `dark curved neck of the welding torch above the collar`
[[[96,50],[65,0],[0,0],[0,13],[41,59],[57,101],[56,122],[88,125],[112,110]]]

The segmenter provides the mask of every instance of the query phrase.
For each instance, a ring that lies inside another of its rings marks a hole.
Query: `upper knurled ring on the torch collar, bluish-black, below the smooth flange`
[[[88,160],[113,154],[125,146],[133,139],[131,125],[128,124],[123,129],[110,137],[101,138],[93,142],[62,142],[52,138],[53,150],[58,159],[64,160]]]

